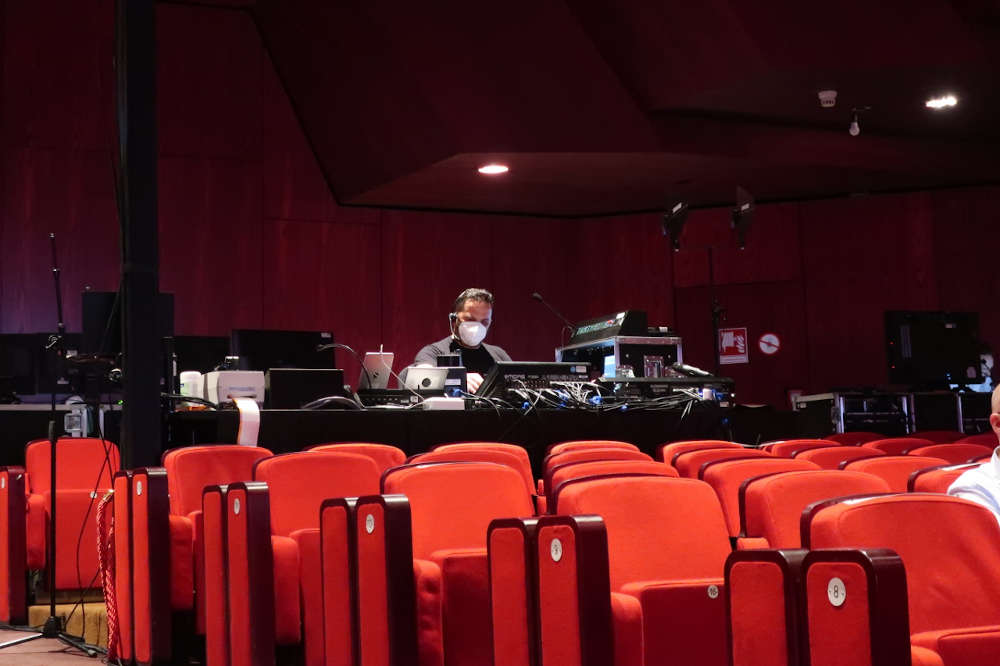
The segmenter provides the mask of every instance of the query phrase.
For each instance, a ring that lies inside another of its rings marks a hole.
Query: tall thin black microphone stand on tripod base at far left
[[[56,615],[56,504],[57,504],[57,485],[56,485],[56,444],[59,438],[56,437],[56,419],[58,414],[56,413],[56,391],[59,388],[59,377],[62,374],[63,363],[66,360],[66,348],[64,346],[64,340],[66,337],[66,325],[63,322],[63,312],[62,312],[62,288],[59,280],[59,262],[56,257],[56,235],[53,233],[49,234],[49,242],[52,247],[52,278],[55,281],[56,290],[56,315],[58,317],[58,323],[56,324],[56,333],[50,335],[48,341],[45,344],[45,350],[52,354],[52,369],[49,373],[50,379],[52,380],[52,395],[50,402],[50,416],[49,416],[49,547],[48,547],[48,562],[46,563],[46,569],[48,571],[48,588],[49,588],[49,617],[45,620],[45,624],[42,625],[41,632],[32,634],[31,636],[24,636],[22,638],[16,638],[11,641],[6,641],[0,643],[0,649],[12,647],[14,645],[20,645],[22,643],[27,643],[29,641],[37,640],[39,638],[55,638],[62,641],[70,647],[74,647],[81,652],[84,652],[88,657],[97,656],[98,650],[94,647],[88,645],[85,641],[77,636],[70,636],[69,634],[63,632],[62,618]]]

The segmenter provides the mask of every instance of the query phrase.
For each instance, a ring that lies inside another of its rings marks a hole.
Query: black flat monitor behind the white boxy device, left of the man
[[[271,368],[336,367],[332,349],[316,351],[320,345],[333,342],[327,331],[269,331],[261,329],[233,329],[231,351],[240,357],[240,370]]]

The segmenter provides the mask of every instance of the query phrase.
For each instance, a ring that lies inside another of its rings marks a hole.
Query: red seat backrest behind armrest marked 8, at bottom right
[[[803,517],[803,545],[896,551],[911,633],[1000,624],[1000,527],[978,504],[930,493],[839,502]]]

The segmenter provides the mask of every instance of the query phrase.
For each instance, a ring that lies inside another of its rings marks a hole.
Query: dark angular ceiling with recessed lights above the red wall
[[[343,204],[591,216],[1000,182],[1000,0],[252,11]]]

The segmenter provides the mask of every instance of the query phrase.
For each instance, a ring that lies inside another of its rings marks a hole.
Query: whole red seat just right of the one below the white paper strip
[[[254,480],[266,484],[269,521],[255,516],[253,506],[240,510],[234,505],[239,498],[227,493],[227,529],[230,536],[241,535],[229,539],[227,552],[232,663],[249,664],[260,650],[255,635],[269,627],[238,623],[254,617],[254,609],[266,604],[274,606],[270,642],[278,647],[301,645],[307,666],[325,663],[320,508],[329,498],[377,492],[379,476],[378,466],[367,456],[304,451],[265,458],[254,467]],[[263,510],[261,506],[257,508]],[[267,529],[269,540],[251,534],[254,529]],[[347,534],[342,538],[346,540]],[[271,563],[273,577],[234,575],[234,563],[243,566],[243,561],[251,569],[266,569],[261,563]],[[346,569],[346,562],[342,566]],[[342,649],[350,653],[351,637],[341,638]]]

